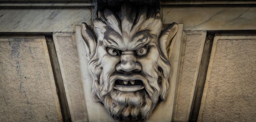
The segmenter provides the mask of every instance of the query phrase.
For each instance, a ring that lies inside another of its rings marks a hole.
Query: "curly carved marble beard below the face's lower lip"
[[[135,92],[113,90],[104,97],[104,106],[114,119],[146,119],[152,112],[152,100],[145,89]]]

